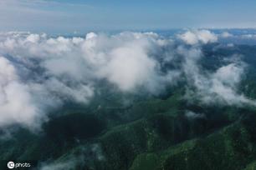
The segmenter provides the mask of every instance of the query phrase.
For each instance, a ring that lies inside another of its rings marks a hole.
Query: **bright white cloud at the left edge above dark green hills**
[[[36,120],[40,112],[33,103],[26,84],[19,81],[13,65],[0,57],[0,126],[21,123],[28,127],[37,127]]]

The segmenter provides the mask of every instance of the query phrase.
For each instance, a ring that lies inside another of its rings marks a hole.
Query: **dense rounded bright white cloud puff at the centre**
[[[99,74],[117,84],[121,90],[134,89],[136,85],[149,81],[155,73],[156,62],[147,57],[140,48],[120,47],[110,55],[110,62],[100,69]]]

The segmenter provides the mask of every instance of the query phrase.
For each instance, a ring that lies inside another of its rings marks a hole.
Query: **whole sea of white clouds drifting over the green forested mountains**
[[[255,105],[238,93],[247,65],[237,56],[216,72],[199,62],[202,45],[230,37],[208,30],[189,30],[176,37],[154,32],[90,32],[85,37],[50,37],[44,33],[0,33],[0,127],[20,124],[40,128],[48,112],[64,102],[90,104],[96,83],[120,92],[161,93],[184,79],[187,99],[205,104]],[[172,64],[178,67],[166,65]],[[193,90],[191,90],[191,88]]]

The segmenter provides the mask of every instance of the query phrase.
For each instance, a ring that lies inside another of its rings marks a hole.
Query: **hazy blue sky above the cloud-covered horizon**
[[[0,31],[256,28],[254,0],[0,0]]]

